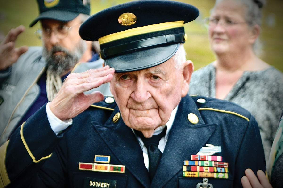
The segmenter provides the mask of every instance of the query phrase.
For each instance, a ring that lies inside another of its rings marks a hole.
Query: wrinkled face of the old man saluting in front
[[[182,95],[183,70],[173,59],[155,67],[134,72],[115,73],[110,90],[128,127],[150,137],[165,125]]]

